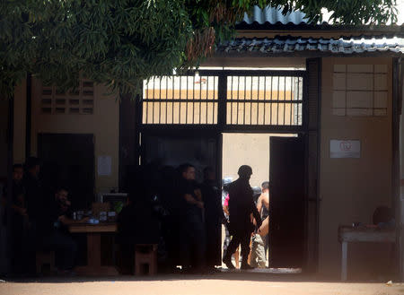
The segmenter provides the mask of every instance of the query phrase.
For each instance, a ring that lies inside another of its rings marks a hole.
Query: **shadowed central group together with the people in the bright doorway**
[[[215,181],[215,169],[203,169],[203,181],[199,183],[196,168],[189,163],[177,168],[156,163],[145,166],[132,177],[137,181],[129,190],[130,202],[120,213],[120,243],[130,245],[125,246],[128,250],[136,243],[158,243],[160,269],[165,262],[168,272],[175,271],[177,265],[186,273],[212,272],[215,265],[222,264],[221,230],[224,224],[230,231],[224,264],[234,267],[231,256],[242,244],[242,269],[249,269],[250,265],[262,267],[265,250],[260,245],[265,247],[268,242],[266,239],[259,242],[259,235],[253,233],[268,216],[265,214],[268,211],[268,182],[263,184],[264,190],[259,197],[254,198],[249,183],[252,169],[244,165],[238,172],[240,178],[225,187],[228,206],[223,206],[223,189]],[[158,202],[154,203],[154,198]],[[142,228],[141,224],[149,226]],[[158,234],[153,235],[156,231]],[[132,261],[131,256],[124,261]],[[259,265],[254,263],[257,261]]]

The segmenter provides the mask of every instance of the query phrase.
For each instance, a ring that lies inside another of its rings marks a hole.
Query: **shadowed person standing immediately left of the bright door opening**
[[[204,182],[201,186],[205,204],[206,266],[214,268],[220,265],[220,224],[224,222],[222,210],[222,192],[215,186],[215,171],[204,169]]]

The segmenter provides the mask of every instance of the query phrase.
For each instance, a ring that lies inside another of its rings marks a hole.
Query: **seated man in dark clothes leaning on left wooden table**
[[[70,273],[75,266],[77,245],[69,235],[68,225],[88,221],[88,218],[81,221],[72,219],[67,195],[66,188],[57,189],[55,198],[49,204],[44,204],[43,218],[37,228],[40,247],[56,252],[56,265],[60,273]]]

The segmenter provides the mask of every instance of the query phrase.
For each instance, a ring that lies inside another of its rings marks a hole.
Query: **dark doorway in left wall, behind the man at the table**
[[[92,134],[39,134],[42,179],[54,192],[67,187],[75,209],[94,200],[94,143]]]

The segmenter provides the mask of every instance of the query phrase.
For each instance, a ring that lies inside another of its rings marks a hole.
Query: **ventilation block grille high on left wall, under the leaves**
[[[94,83],[81,81],[79,87],[62,91],[57,86],[42,85],[40,111],[42,114],[92,115],[94,110]]]

